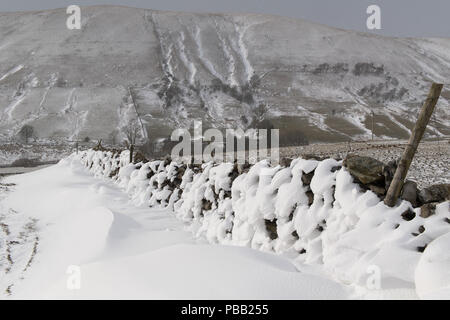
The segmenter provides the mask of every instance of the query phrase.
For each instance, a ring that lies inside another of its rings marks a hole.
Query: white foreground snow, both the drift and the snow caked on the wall
[[[448,257],[436,258],[448,251],[449,201],[426,219],[405,201],[386,207],[334,159],[261,161],[234,181],[229,163],[184,168],[89,150],[8,177],[17,185],[0,212],[36,219],[39,243],[26,271],[15,266],[28,256],[13,258],[0,289],[12,298],[450,298]],[[11,219],[2,215],[19,223]],[[67,289],[69,265],[81,266],[80,290]]]

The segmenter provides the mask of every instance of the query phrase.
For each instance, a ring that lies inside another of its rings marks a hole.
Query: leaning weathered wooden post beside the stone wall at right
[[[436,106],[439,96],[441,95],[442,87],[443,85],[438,83],[433,83],[431,85],[428,97],[420,110],[419,117],[417,118],[413,131],[411,132],[408,144],[403,151],[397,170],[395,170],[394,178],[389,186],[386,198],[384,198],[384,203],[389,207],[395,206],[397,199],[400,196],[409,166],[411,165],[414,154],[419,146],[419,142],[422,139],[431,115],[433,114],[434,107]]]

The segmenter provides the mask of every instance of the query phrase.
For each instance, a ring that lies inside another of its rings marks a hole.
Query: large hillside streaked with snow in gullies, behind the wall
[[[284,143],[405,138],[431,81],[450,78],[450,39],[399,39],[265,15],[83,7],[0,13],[0,139],[121,142],[137,104],[150,138],[274,126]],[[430,134],[449,135],[444,87]],[[265,120],[265,121],[263,121]],[[162,140],[160,140],[162,141]]]

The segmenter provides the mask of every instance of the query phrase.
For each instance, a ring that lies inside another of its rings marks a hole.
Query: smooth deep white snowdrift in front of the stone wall
[[[340,281],[323,265],[301,262],[288,253],[208,244],[194,237],[171,209],[136,206],[120,184],[94,177],[76,156],[0,183],[3,299],[418,298],[414,283],[395,277],[383,278],[381,287],[373,288]],[[426,228],[442,233],[442,228],[431,228],[433,221]],[[366,219],[363,226],[370,228],[371,223]],[[449,274],[442,272],[449,269],[449,240],[449,233],[434,240],[420,260],[419,253],[404,256],[419,261],[415,284],[419,293],[429,292],[422,298],[450,298]],[[364,241],[370,242],[370,236],[355,247],[370,247]],[[383,272],[410,273],[413,260],[399,265],[386,261],[391,257],[398,262],[402,257],[395,255],[404,251],[389,246],[380,251],[385,259],[380,263],[391,263]],[[80,267],[79,289],[68,285],[73,266]]]

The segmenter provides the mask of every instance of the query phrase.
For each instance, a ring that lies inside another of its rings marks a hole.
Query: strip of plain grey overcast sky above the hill
[[[0,0],[0,11],[44,10],[71,4],[268,13],[365,32],[374,32],[366,27],[366,9],[370,4],[377,4],[381,8],[382,30],[376,33],[450,38],[450,0]]]

